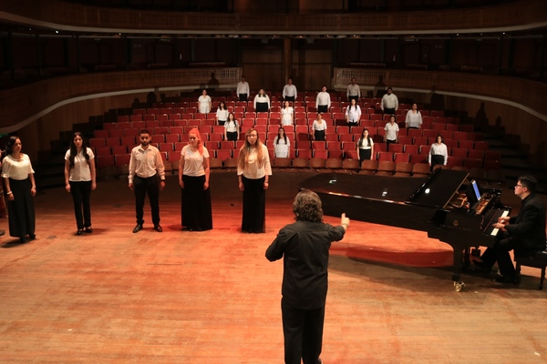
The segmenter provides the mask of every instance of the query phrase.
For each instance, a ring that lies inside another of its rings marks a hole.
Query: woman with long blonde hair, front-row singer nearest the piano
[[[239,188],[243,192],[242,231],[265,232],[266,189],[272,176],[268,148],[261,143],[256,129],[245,133],[245,144],[237,161]]]

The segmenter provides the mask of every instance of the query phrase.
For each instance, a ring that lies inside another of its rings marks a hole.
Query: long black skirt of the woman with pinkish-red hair
[[[182,227],[191,231],[211,230],[211,188],[203,189],[205,176],[182,175],[182,182]]]

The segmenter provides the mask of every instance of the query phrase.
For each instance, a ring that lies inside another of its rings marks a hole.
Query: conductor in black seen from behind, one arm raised
[[[344,238],[349,218],[342,214],[337,227],[325,224],[321,199],[307,189],[294,197],[293,213],[296,221],[279,230],[266,249],[268,260],[284,259],[284,362],[321,364],[329,248]]]

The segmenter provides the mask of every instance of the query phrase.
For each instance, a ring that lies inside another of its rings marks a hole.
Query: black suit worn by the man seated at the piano
[[[514,278],[511,250],[516,256],[525,257],[545,249],[545,205],[542,198],[536,194],[524,198],[519,215],[511,217],[505,229],[507,231],[501,239],[493,248],[486,249],[481,258],[487,267],[498,260],[501,275]]]

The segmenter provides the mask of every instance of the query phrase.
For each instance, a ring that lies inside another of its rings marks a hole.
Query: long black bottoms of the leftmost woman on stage
[[[26,235],[33,235],[36,228],[36,217],[30,193],[30,187],[32,187],[30,179],[9,178],[9,187],[14,196],[13,201],[7,200],[9,236],[25,238]]]

